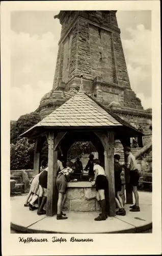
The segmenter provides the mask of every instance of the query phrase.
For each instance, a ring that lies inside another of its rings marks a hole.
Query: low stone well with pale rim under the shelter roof
[[[67,186],[66,211],[99,211],[96,189],[89,181],[69,182]]]

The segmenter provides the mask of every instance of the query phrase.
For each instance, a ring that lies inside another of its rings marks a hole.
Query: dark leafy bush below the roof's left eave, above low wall
[[[34,143],[29,139],[19,139],[10,145],[10,169],[33,169]]]

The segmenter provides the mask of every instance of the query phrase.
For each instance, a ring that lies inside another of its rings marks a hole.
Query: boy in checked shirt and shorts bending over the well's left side
[[[70,180],[70,174],[73,172],[71,162],[67,162],[67,167],[61,170],[56,179],[56,185],[58,189],[58,208],[57,208],[57,220],[65,220],[68,217],[65,217],[66,214],[63,214],[63,205],[66,200],[66,188],[67,182]]]

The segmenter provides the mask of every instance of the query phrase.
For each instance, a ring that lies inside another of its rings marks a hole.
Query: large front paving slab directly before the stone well
[[[47,217],[30,227],[29,232],[56,232],[56,233],[116,233],[133,232],[134,226],[114,217],[108,217],[105,221],[95,221],[97,212],[66,212],[68,219],[57,220],[56,216]]]

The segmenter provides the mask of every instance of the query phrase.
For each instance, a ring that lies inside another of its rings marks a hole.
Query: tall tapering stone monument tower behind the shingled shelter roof
[[[62,25],[52,90],[37,111],[44,117],[80,87],[116,114],[148,134],[152,111],[144,110],[131,90],[118,28],[117,11],[60,11]],[[141,84],[142,86],[142,84]]]

